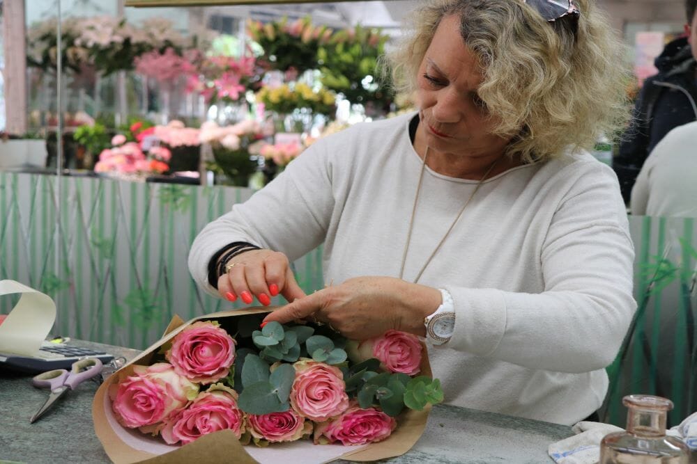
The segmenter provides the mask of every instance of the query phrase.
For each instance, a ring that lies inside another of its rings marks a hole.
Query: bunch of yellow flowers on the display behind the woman
[[[264,86],[256,93],[279,132],[307,133],[316,116],[330,118],[336,113],[336,95],[321,86],[291,82],[280,86]]]

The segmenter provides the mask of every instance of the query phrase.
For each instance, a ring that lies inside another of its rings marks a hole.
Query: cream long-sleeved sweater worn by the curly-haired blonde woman
[[[335,285],[399,276],[422,167],[408,135],[414,116],[355,125],[309,147],[199,234],[194,280],[213,291],[208,262],[234,241],[291,260],[324,243],[323,277]],[[405,280],[476,184],[427,168]],[[560,424],[588,417],[636,309],[633,259],[617,178],[590,154],[487,179],[419,281],[454,300],[453,337],[430,353],[445,401]]]

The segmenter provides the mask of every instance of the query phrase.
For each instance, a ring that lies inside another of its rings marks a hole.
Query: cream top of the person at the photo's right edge
[[[676,127],[654,147],[631,189],[631,214],[697,216],[697,122]]]

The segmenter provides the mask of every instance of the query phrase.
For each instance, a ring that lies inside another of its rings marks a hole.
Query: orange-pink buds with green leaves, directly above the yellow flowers
[[[266,24],[250,19],[247,34],[263,48],[259,59],[267,69],[284,72],[286,80],[294,81],[306,70],[316,69],[317,49],[328,42],[332,29],[313,26],[309,17],[291,24],[287,17]]]

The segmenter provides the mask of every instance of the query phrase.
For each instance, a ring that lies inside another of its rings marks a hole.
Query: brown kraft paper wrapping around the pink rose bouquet
[[[102,447],[109,458],[116,464],[130,463],[235,463],[252,464],[279,461],[284,456],[284,463],[323,463],[335,459],[346,461],[377,461],[406,453],[421,437],[430,412],[430,406],[422,411],[406,410],[397,417],[397,429],[390,438],[362,447],[344,447],[341,445],[313,445],[309,440],[298,440],[285,444],[271,444],[268,448],[256,448],[254,445],[243,446],[229,430],[217,431],[204,435],[184,446],[166,445],[160,438],[151,437],[137,429],[127,429],[116,422],[109,399],[109,386],[120,378],[132,374],[133,365],[150,365],[153,354],[160,346],[169,342],[177,333],[195,321],[220,320],[229,317],[245,317],[264,314],[272,307],[252,307],[246,310],[234,310],[206,314],[184,322],[174,316],[163,337],[134,360],[116,371],[102,383],[92,403],[94,429]],[[424,346],[424,353],[427,353]],[[428,355],[422,357],[421,374],[431,376]],[[337,451],[337,449],[339,451]],[[332,451],[334,454],[332,454]],[[291,455],[292,453],[292,455]],[[256,459],[250,454],[254,454]],[[291,456],[295,456],[291,458]],[[289,460],[290,459],[290,460]]]

